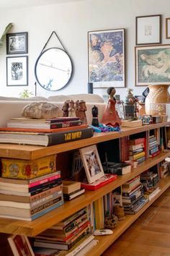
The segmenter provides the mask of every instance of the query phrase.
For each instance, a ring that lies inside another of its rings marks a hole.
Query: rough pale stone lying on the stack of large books
[[[22,116],[34,119],[50,119],[58,117],[60,109],[53,103],[33,102],[22,109]]]

